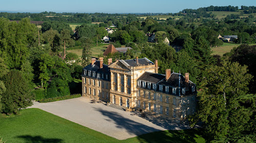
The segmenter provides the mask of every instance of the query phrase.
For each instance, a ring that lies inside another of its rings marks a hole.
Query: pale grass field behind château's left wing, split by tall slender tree
[[[109,44],[98,44],[98,46],[92,47],[92,56],[96,56],[99,54],[103,54],[105,49],[109,46]],[[78,55],[79,58],[82,56],[82,49],[67,49],[68,52],[72,52]]]

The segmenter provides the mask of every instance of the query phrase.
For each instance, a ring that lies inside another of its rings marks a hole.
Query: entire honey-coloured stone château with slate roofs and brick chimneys
[[[152,116],[181,121],[196,110],[196,85],[189,74],[158,74],[158,62],[133,59],[103,64],[92,59],[83,68],[82,96],[146,112]]]

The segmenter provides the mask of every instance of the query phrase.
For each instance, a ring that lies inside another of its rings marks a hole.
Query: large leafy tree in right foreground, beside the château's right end
[[[210,66],[206,71],[195,117],[204,122],[209,139],[237,142],[253,127],[248,124],[254,120],[255,97],[247,94],[252,76],[247,66],[230,62]]]

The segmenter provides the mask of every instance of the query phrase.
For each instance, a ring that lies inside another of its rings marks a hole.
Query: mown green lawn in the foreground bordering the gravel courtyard
[[[1,115],[0,115],[1,116]],[[0,134],[8,142],[205,142],[198,130],[160,131],[118,140],[46,111],[31,108],[0,117]]]

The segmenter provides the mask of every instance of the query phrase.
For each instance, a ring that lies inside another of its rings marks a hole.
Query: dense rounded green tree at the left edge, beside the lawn
[[[18,110],[32,105],[28,83],[20,71],[11,70],[5,75],[4,83],[6,92],[3,94],[2,103],[5,113],[16,114]]]

